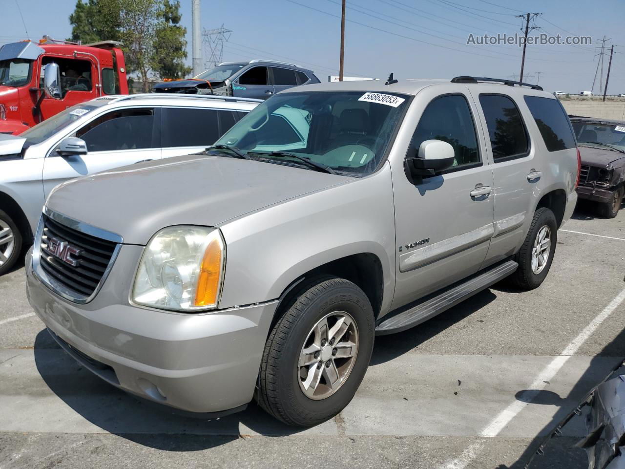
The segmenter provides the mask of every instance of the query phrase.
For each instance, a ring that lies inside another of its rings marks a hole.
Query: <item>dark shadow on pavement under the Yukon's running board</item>
[[[417,348],[426,340],[462,321],[475,311],[484,308],[496,298],[495,291],[486,289],[417,327],[392,335],[376,336],[369,366],[386,363],[386,361],[393,360],[407,351]]]

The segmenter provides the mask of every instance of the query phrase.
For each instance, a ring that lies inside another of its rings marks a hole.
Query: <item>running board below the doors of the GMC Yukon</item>
[[[382,322],[376,327],[376,335],[394,334],[417,326],[423,321],[448,310],[452,306],[456,306],[470,296],[497,283],[514,272],[518,266],[514,261],[498,264],[484,273],[479,273],[469,278],[469,280],[463,283],[456,283],[456,285],[439,293],[439,295],[412,306],[406,311],[392,315],[392,317],[387,319],[382,318]]]

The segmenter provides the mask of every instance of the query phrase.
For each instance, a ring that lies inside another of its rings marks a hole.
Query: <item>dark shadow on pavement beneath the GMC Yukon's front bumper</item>
[[[93,425],[128,440],[166,451],[198,451],[241,438],[240,424],[264,436],[286,436],[287,426],[255,403],[215,420],[175,415],[167,407],[129,395],[93,375],[61,349],[46,329],[34,343],[37,371],[46,385]]]

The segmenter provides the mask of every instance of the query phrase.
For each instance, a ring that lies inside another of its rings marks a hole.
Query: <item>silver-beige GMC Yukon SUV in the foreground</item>
[[[293,88],[203,153],[59,185],[27,294],[118,388],[314,425],[354,396],[376,334],[504,278],[541,285],[578,178],[569,119],[537,86]]]

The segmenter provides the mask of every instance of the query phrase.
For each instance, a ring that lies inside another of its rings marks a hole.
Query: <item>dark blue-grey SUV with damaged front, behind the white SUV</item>
[[[271,60],[224,62],[194,78],[156,84],[155,93],[221,94],[267,99],[283,89],[319,83],[312,71]]]

